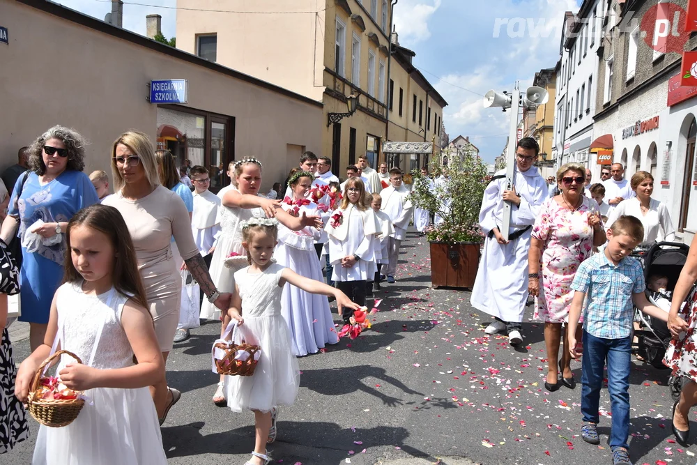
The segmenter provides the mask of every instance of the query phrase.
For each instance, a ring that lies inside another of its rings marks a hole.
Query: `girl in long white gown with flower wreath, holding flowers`
[[[293,174],[288,182],[293,199],[284,200],[282,208],[307,215],[318,214],[317,205],[307,199],[312,181],[314,176],[307,171]],[[322,268],[314,247],[314,241],[321,234],[322,231],[314,227],[305,227],[300,231],[279,227],[278,245],[274,251],[277,263],[291,268],[298,275],[323,281]],[[309,294],[297,287],[286,287],[281,298],[281,314],[291,330],[292,349],[296,356],[317,353],[326,344],[339,342],[326,296]]]

